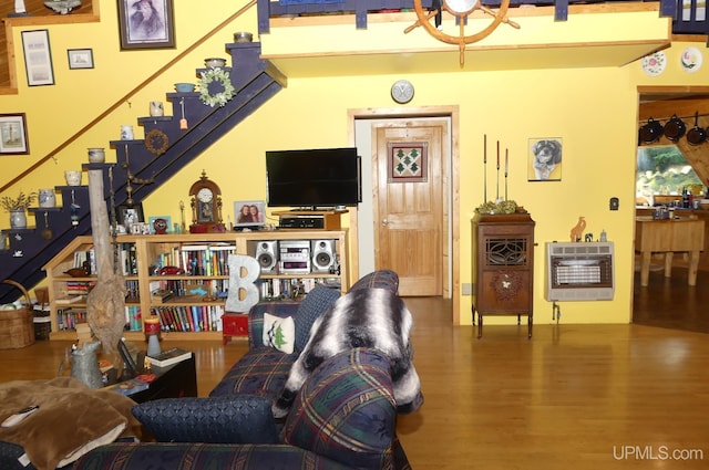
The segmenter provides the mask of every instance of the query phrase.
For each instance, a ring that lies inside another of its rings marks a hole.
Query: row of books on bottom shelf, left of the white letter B
[[[160,317],[164,332],[220,332],[223,305],[154,306],[151,314]]]

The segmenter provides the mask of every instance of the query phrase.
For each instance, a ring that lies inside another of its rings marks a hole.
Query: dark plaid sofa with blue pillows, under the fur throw
[[[392,271],[374,271],[351,288],[398,293]],[[353,348],[325,361],[307,379],[285,422],[270,411],[315,320],[340,296],[317,286],[300,302],[265,302],[249,312],[249,351],[208,398],[138,405],[133,412],[157,442],[112,443],[74,469],[410,469],[395,435],[389,359]],[[264,344],[265,314],[295,321],[295,348]]]

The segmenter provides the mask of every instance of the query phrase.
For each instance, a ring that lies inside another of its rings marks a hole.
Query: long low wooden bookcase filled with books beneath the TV
[[[277,247],[284,241],[312,247],[307,255],[319,255],[312,261],[312,265],[319,268],[322,268],[322,257],[331,255],[337,260],[332,264],[337,269],[311,269],[308,263],[307,272],[282,272],[278,263],[274,270],[259,275],[259,288],[267,286],[259,289],[264,296],[273,295],[274,291],[291,292],[286,285],[297,285],[305,292],[316,283],[337,285],[342,292],[349,289],[347,230],[119,237],[117,267],[123,271],[126,286],[125,336],[132,341],[142,340],[144,320],[158,315],[163,338],[222,341],[229,288],[228,255],[254,255],[255,246],[268,242],[278,258]],[[326,247],[325,253],[318,251],[320,246]],[[88,274],[78,268],[92,265],[92,249],[91,237],[76,237],[43,268],[50,296],[51,340],[75,338],[76,323],[85,322],[86,294],[96,282],[95,267]],[[230,322],[228,333],[234,334],[239,325],[243,326]]]

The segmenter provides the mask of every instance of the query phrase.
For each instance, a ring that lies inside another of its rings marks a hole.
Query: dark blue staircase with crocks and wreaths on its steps
[[[137,119],[144,126],[145,136],[153,142],[147,146],[144,139],[111,142],[116,163],[83,165],[83,169],[104,170],[106,205],[110,203],[111,188],[115,206],[126,201],[129,170],[133,200],[141,202],[286,85],[285,76],[260,59],[260,43],[234,43],[227,44],[226,49],[234,64],[227,70],[230,70],[229,79],[236,90],[236,96],[229,102],[222,107],[210,107],[202,102],[198,92],[167,93],[167,100],[173,102],[173,109],[179,115]],[[197,70],[202,71],[205,69]],[[209,88],[214,95],[222,91],[222,84],[213,82]],[[187,129],[179,128],[183,100]],[[164,153],[156,155],[163,149]],[[11,279],[29,290],[44,279],[42,267],[74,237],[91,234],[89,187],[56,186],[55,190],[61,194],[61,207],[29,209],[28,219],[34,215],[35,227],[28,224],[27,229],[2,230],[9,242],[0,247],[0,279]],[[45,221],[52,232],[51,239],[47,239],[48,233],[44,232]],[[0,304],[19,296],[21,293],[16,288],[0,284]]]

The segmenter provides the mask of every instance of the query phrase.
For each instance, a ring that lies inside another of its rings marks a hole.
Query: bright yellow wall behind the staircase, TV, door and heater
[[[0,182],[47,155],[65,138],[103,112],[116,98],[141,83],[176,53],[189,46],[233,13],[232,2],[175,2],[177,50],[123,51],[119,49],[115,2],[101,1],[97,23],[52,25],[50,41],[54,61],[54,86],[28,87],[21,60],[23,29],[13,33],[19,93],[0,96],[3,113],[27,113],[31,155],[4,156]],[[43,27],[42,27],[43,28]],[[145,91],[131,96],[85,137],[62,150],[56,161],[11,188],[35,190],[63,184],[65,169],[86,161],[86,147],[109,147],[117,140],[121,124],[134,124],[147,115],[147,103],[165,100],[175,82],[196,82],[195,69],[207,56],[226,56],[224,44],[235,31],[257,31],[255,10],[216,34],[188,60],[165,73]],[[696,44],[703,50],[703,44]],[[489,157],[496,140],[510,152],[508,196],[524,206],[536,221],[535,323],[552,321],[552,305],[544,300],[544,242],[568,240],[579,216],[595,237],[606,230],[616,249],[616,295],[610,302],[566,302],[564,323],[627,323],[633,291],[634,176],[636,152],[637,86],[707,83],[709,65],[695,74],[681,72],[677,45],[668,51],[667,71],[648,77],[634,62],[623,67],[526,70],[410,74],[417,93],[411,106],[456,105],[460,109],[460,280],[470,283],[471,227],[474,208],[483,202],[483,135]],[[92,48],[95,69],[69,70],[66,49]],[[238,66],[238,64],[236,64]],[[228,136],[215,143],[197,161],[187,165],[161,191],[144,202],[146,217],[171,216],[179,221],[178,201],[187,201],[192,182],[206,170],[223,191],[224,215],[232,201],[265,199],[264,152],[278,148],[341,146],[348,144],[351,108],[391,107],[389,90],[400,75],[289,79],[288,87],[259,108]],[[445,86],[441,86],[444,83]],[[166,102],[167,104],[167,102]],[[166,106],[166,114],[172,109]],[[175,114],[177,109],[175,109]],[[564,143],[562,181],[527,181],[527,146],[534,137],[561,137]],[[109,152],[109,159],[114,159]],[[489,199],[496,175],[487,166]],[[502,179],[501,179],[502,181]],[[501,188],[501,191],[503,189]],[[618,197],[620,210],[609,211],[608,199]],[[189,215],[186,213],[188,218]],[[31,223],[31,222],[30,222]],[[0,226],[9,221],[0,218]],[[471,323],[471,297],[462,296],[461,323]],[[489,323],[516,318],[491,318]]]

